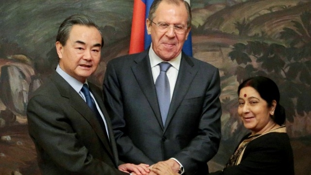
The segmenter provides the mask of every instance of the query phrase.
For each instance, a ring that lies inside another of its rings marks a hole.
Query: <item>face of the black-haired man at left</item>
[[[73,25],[66,44],[56,42],[59,67],[84,83],[99,64],[102,36],[96,27]]]

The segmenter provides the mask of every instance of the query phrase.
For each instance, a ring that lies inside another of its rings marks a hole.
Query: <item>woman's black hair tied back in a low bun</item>
[[[284,124],[286,119],[285,109],[279,104],[280,93],[276,83],[273,80],[263,76],[252,77],[244,80],[238,88],[238,95],[240,94],[241,89],[245,87],[252,87],[256,89],[260,97],[267,102],[268,107],[271,107],[272,101],[275,100],[276,109],[274,111],[274,115],[271,116],[271,118],[279,125]]]

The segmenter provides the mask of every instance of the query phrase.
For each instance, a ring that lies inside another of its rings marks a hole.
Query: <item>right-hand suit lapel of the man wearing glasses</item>
[[[164,127],[164,132],[166,128],[168,127],[168,125],[170,124],[179,105],[185,98],[185,95],[187,94],[190,88],[191,82],[193,81],[198,71],[197,69],[194,68],[194,66],[195,65],[190,60],[190,58],[183,53],[181,57],[181,61],[180,61],[180,67],[178,71],[175,88],[173,91],[173,97],[172,97],[169,113],[168,113],[166,124]]]

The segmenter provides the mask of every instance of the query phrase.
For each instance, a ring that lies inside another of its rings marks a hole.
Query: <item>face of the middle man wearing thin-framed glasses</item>
[[[153,21],[156,24],[167,23],[187,27],[187,19],[188,13],[183,3],[176,5],[162,1],[155,11]],[[185,30],[183,34],[176,34],[173,27],[170,27],[167,32],[159,31],[157,26],[149,19],[146,20],[146,25],[147,32],[151,35],[152,49],[155,54],[165,61],[177,57],[188,37],[190,28]]]

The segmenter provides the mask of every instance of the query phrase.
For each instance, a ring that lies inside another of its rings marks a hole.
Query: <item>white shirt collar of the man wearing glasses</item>
[[[159,63],[163,62],[163,60],[155,54],[155,51],[152,49],[152,43],[149,49],[149,59],[150,59],[150,65],[151,68],[155,67]],[[176,70],[179,70],[180,66],[180,60],[181,60],[181,52],[178,54],[176,58],[171,59],[168,61]]]

